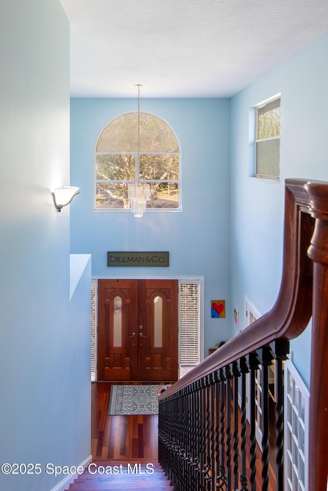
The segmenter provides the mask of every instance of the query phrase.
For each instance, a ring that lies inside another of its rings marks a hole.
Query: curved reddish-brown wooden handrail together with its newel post
[[[158,399],[166,399],[275,340],[296,338],[311,316],[309,491],[323,491],[328,473],[328,182],[286,179],[282,279],[275,305]]]

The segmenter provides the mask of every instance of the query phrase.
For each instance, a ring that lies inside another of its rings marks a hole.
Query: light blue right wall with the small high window
[[[328,35],[231,99],[232,303],[244,295],[264,314],[275,303],[282,267],[284,179],[328,180]],[[281,92],[280,182],[249,177],[254,106]],[[252,133],[252,132],[251,132]],[[240,319],[243,326],[243,317]],[[311,328],[292,342],[294,364],[310,382]]]

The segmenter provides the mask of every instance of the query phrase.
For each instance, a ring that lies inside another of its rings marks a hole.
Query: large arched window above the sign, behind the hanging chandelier
[[[139,156],[139,158],[138,158]],[[149,183],[148,211],[180,211],[177,138],[165,121],[140,112],[113,119],[100,133],[95,151],[95,211],[130,211],[128,184]]]

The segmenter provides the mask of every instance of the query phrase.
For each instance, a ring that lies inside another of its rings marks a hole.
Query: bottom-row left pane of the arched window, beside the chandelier
[[[96,183],[96,208],[128,208],[127,183]]]

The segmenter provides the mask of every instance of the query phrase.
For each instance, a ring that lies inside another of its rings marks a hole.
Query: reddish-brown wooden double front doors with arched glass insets
[[[98,380],[175,381],[178,281],[98,280]]]

